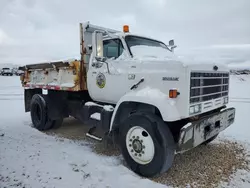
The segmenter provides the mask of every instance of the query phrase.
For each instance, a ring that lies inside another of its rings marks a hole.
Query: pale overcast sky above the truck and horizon
[[[0,0],[0,64],[79,56],[85,21],[181,49],[250,44],[250,0]]]

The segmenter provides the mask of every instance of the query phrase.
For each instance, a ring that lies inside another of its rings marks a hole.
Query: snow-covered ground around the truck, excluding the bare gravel
[[[250,150],[250,76],[232,76],[230,97],[236,122],[220,138],[237,140]],[[140,178],[120,157],[97,155],[86,141],[32,128],[19,77],[0,77],[0,120],[0,188],[166,187]],[[250,173],[238,171],[229,185],[221,186],[249,188]]]

